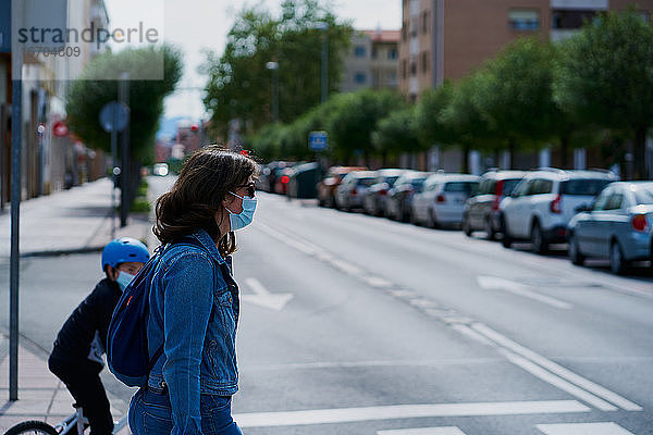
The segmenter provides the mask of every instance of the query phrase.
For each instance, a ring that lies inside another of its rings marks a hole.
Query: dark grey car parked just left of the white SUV
[[[498,204],[510,195],[526,175],[523,171],[489,171],[481,176],[477,192],[465,203],[463,231],[471,236],[476,231],[485,232],[493,240],[501,232]]]

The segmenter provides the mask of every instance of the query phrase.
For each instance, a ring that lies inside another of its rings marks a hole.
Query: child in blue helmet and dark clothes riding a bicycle
[[[123,290],[149,260],[147,247],[131,237],[110,241],[102,251],[101,279],[63,324],[48,361],[82,407],[91,435],[113,431],[109,399],[100,381],[107,330]]]

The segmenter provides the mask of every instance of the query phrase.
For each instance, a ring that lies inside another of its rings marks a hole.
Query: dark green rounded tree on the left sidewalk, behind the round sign
[[[141,77],[151,65],[160,65],[161,58],[162,79],[130,82],[131,157],[141,162],[151,161],[163,99],[173,92],[182,76],[182,55],[173,47],[104,52],[90,61],[82,77],[71,84],[66,100],[71,130],[89,147],[110,151],[111,135],[100,125],[99,113],[104,104],[118,99],[119,82],[98,77],[118,78],[122,72]]]

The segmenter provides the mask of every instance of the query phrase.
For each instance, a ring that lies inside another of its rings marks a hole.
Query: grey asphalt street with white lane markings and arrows
[[[234,256],[245,434],[653,434],[646,273],[257,195]],[[99,253],[23,259],[23,336],[49,351],[99,277]]]

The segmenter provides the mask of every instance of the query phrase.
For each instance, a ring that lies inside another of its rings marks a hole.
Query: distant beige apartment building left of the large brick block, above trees
[[[344,58],[341,91],[362,88],[397,89],[399,30],[358,30]]]

